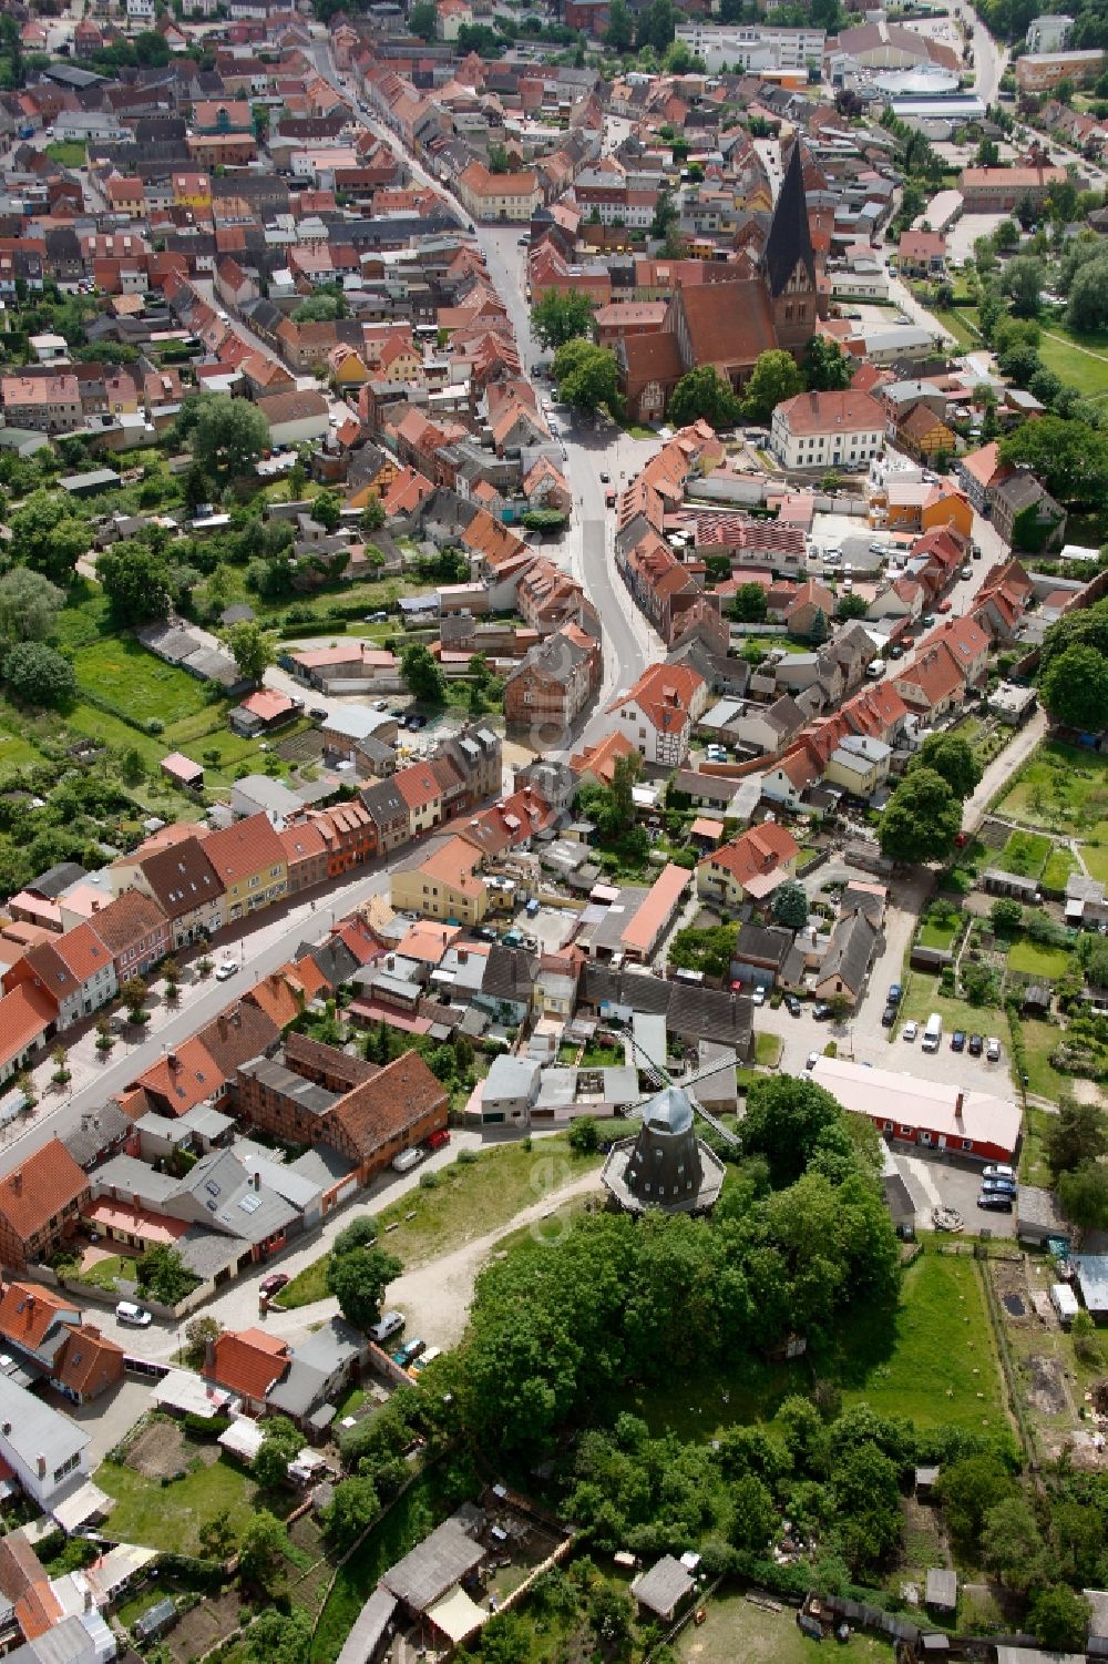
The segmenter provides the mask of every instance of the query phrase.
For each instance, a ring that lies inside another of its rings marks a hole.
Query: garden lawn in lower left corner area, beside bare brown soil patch
[[[200,1528],[223,1509],[230,1513],[235,1529],[241,1531],[255,1513],[258,1491],[253,1479],[225,1456],[211,1466],[198,1463],[183,1479],[171,1479],[168,1484],[111,1461],[96,1469],[95,1479],[116,1499],[111,1531],[123,1543],[143,1543],[166,1554],[195,1554],[200,1548]]]

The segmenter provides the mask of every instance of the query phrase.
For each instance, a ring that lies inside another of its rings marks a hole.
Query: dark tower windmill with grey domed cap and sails
[[[649,1070],[662,1078],[660,1090],[646,1095],[631,1112],[642,1125],[634,1138],[612,1145],[604,1171],[604,1188],[626,1213],[707,1213],[724,1188],[724,1163],[697,1138],[697,1115],[725,1143],[739,1146],[739,1138],[715,1120],[689,1090],[719,1065],[699,1070],[680,1083],[649,1058],[634,1035],[627,1035]]]

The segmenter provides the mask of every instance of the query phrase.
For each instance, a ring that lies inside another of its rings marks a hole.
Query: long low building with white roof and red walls
[[[820,1057],[812,1080],[843,1108],[865,1115],[885,1138],[975,1161],[1015,1161],[1020,1110],[1008,1098],[838,1057]]]

